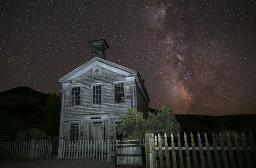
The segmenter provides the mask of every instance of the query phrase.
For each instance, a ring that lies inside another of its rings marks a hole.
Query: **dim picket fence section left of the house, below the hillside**
[[[0,141],[0,159],[50,159],[50,140]]]

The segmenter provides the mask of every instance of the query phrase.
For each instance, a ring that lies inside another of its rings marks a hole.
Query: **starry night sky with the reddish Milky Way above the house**
[[[150,108],[176,114],[256,113],[255,1],[1,1],[0,91],[60,92],[91,59],[138,70]]]

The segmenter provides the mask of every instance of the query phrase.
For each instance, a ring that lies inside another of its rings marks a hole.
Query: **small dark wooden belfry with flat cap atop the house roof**
[[[106,59],[106,49],[109,49],[108,43],[106,43],[105,39],[101,40],[91,40],[88,41],[92,47],[92,58],[99,57],[102,59]]]

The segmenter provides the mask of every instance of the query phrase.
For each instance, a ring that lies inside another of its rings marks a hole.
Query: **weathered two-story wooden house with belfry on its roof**
[[[88,41],[92,59],[61,77],[59,138],[116,139],[129,107],[147,113],[150,98],[138,71],[105,58],[104,39]]]

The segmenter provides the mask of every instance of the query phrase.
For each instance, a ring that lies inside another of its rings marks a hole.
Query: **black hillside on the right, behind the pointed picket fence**
[[[211,133],[219,134],[222,130],[236,131],[241,135],[243,131],[247,136],[249,131],[252,133],[254,140],[256,139],[256,114],[240,114],[240,115],[176,115],[177,121],[181,123],[181,136],[184,132],[190,136],[190,132],[194,137],[199,132],[201,136],[204,132],[211,137]],[[211,140],[211,139],[210,139]]]

